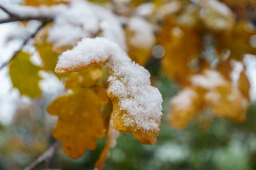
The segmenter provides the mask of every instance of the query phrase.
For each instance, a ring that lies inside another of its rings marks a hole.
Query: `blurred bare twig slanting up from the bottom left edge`
[[[35,168],[39,163],[45,161],[46,159],[52,158],[56,149],[59,148],[60,145],[61,145],[61,141],[56,141],[55,143],[53,143],[53,145],[46,152],[44,152],[41,156],[39,156],[34,162],[32,162],[24,170],[31,170]]]

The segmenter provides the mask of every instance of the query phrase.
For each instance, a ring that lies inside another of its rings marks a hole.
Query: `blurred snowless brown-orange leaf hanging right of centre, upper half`
[[[179,27],[177,21],[170,18],[158,36],[158,42],[165,47],[165,55],[162,59],[163,69],[170,78],[181,85],[186,85],[187,78],[195,72],[190,67],[190,63],[199,57],[202,48],[199,30],[192,27]]]

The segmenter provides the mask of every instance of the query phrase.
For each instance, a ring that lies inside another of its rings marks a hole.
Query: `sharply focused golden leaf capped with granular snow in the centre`
[[[100,63],[112,70],[108,79],[108,96],[113,103],[114,128],[131,132],[145,144],[156,143],[162,96],[151,86],[150,73],[132,62],[117,44],[105,38],[85,38],[72,50],[62,53],[55,71],[81,71]]]

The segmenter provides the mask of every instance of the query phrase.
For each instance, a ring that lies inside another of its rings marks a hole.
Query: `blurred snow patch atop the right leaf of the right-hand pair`
[[[195,75],[191,77],[191,83],[195,86],[203,87],[205,89],[212,89],[216,86],[224,85],[225,78],[215,70],[206,69],[203,75]]]

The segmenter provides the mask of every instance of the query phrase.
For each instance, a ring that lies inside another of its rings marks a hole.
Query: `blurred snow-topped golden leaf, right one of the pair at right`
[[[203,70],[191,82],[197,88],[206,90],[204,105],[210,107],[218,117],[227,117],[238,122],[245,119],[248,101],[240,90],[216,70]]]

